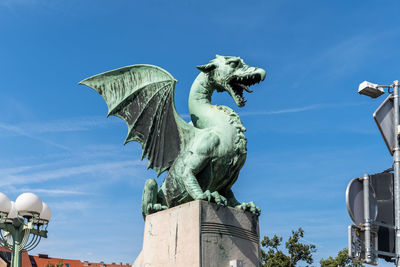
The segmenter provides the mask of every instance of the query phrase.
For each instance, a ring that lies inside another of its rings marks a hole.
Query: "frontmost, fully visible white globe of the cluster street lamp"
[[[23,193],[17,197],[15,208],[23,217],[37,217],[42,212],[43,204],[37,195]]]

